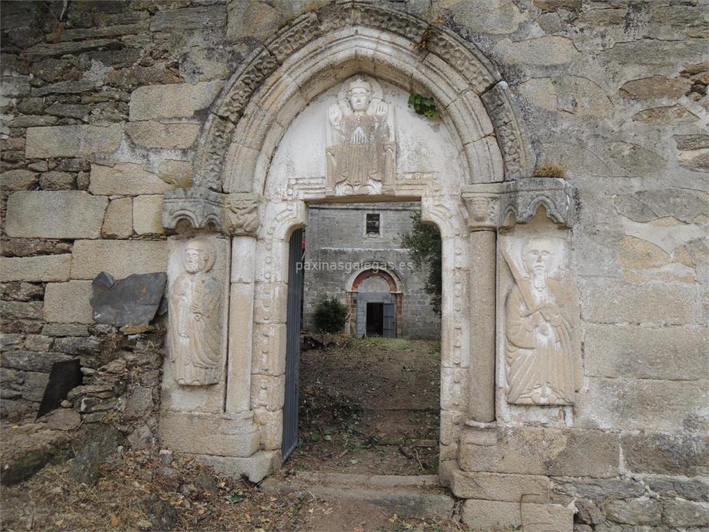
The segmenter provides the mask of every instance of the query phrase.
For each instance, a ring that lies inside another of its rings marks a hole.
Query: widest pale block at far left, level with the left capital
[[[80,191],[15,192],[5,231],[9,236],[99,238],[108,199]]]

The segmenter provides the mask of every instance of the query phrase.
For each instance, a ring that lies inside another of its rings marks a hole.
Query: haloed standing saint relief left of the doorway
[[[179,384],[214,384],[221,377],[221,288],[210,275],[216,248],[189,240],[182,252],[184,272],[169,293],[169,359]]]

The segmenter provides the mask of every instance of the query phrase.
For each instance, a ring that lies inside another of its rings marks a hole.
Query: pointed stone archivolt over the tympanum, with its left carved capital
[[[509,89],[484,55],[408,13],[359,1],[330,4],[282,28],[225,85],[203,128],[194,187],[165,195],[164,226],[184,218],[198,228],[211,223],[230,234],[254,233],[232,222],[230,200],[218,193],[262,193],[290,121],[357,72],[434,96],[470,184],[530,174],[534,156]],[[507,206],[524,217],[518,202]]]

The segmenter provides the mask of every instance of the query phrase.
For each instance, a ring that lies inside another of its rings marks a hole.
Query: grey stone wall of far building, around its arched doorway
[[[365,262],[393,265],[403,282],[404,338],[440,338],[440,317],[423,289],[425,274],[415,267],[411,255],[401,248],[400,236],[410,233],[411,214],[420,204],[313,205],[308,209],[306,263],[318,270],[306,270],[303,287],[303,323],[313,329],[313,314],[320,299],[337,297],[346,301],[348,281],[356,275],[355,265]],[[379,213],[380,234],[364,233],[367,213]],[[342,267],[330,265],[342,264]],[[389,290],[387,288],[387,290]]]

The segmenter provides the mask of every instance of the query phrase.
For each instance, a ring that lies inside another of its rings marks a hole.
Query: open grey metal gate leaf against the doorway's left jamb
[[[286,316],[286,394],[283,405],[281,461],[298,445],[298,365],[300,362],[303,301],[303,230],[291,235],[288,254],[288,314]],[[301,267],[297,267],[298,262]]]

